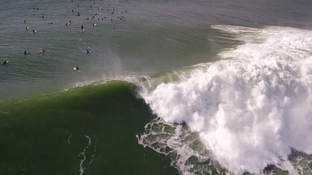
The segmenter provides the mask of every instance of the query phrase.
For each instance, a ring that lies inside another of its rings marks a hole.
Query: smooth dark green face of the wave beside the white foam
[[[137,143],[154,116],[136,88],[112,81],[0,102],[0,174],[176,174]]]

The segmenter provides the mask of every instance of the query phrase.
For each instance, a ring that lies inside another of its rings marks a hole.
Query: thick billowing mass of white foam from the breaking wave
[[[312,153],[312,32],[213,26],[246,43],[224,60],[141,96],[165,122],[186,122],[219,163],[240,174]],[[228,59],[235,58],[235,59]]]

